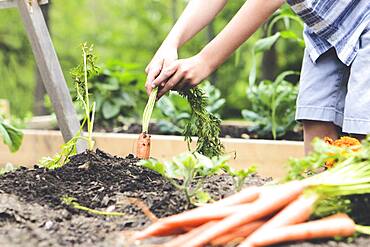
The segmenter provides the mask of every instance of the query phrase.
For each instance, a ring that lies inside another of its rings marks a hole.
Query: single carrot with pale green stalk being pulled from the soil
[[[145,106],[142,122],[142,131],[139,135],[136,145],[136,156],[139,159],[149,159],[150,157],[150,135],[149,123],[152,116],[152,112],[155,105],[155,100],[157,98],[158,88],[154,88],[151,94],[149,95],[148,103]]]

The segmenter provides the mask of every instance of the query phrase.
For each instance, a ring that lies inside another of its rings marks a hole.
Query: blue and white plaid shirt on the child
[[[370,28],[370,0],[287,0],[305,22],[304,39],[311,59],[334,47],[350,65],[361,34]]]

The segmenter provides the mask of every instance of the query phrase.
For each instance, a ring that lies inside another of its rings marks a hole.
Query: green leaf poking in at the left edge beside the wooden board
[[[16,152],[23,140],[23,132],[14,127],[0,114],[0,136],[11,152]]]

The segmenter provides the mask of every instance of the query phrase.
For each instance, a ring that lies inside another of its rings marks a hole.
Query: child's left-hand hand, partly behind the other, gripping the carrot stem
[[[154,57],[145,69],[145,72],[147,74],[145,88],[148,95],[150,95],[153,90],[153,81],[155,80],[155,78],[162,72],[162,70],[166,69],[177,59],[177,48],[170,46],[161,46],[158,49],[158,51],[155,53]]]

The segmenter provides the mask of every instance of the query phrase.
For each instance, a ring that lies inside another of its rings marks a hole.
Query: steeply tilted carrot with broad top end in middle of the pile
[[[278,228],[282,226],[288,226],[305,222],[309,219],[313,211],[313,204],[318,199],[316,194],[302,194],[269,221],[266,222],[262,227],[250,235],[246,241],[250,240],[253,242],[253,238],[258,235],[264,235],[266,230]]]

